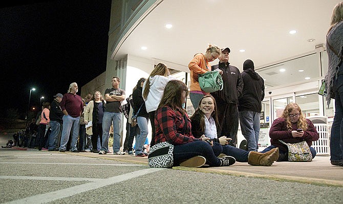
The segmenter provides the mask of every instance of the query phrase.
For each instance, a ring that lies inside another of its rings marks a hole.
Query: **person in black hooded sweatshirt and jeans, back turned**
[[[244,87],[238,106],[241,130],[247,140],[248,151],[258,151],[259,148],[261,101],[264,99],[264,80],[254,68],[250,59],[243,63]]]

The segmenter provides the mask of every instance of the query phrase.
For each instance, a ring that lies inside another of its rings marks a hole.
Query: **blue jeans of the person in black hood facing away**
[[[260,112],[239,111],[241,130],[247,140],[248,151],[258,151],[260,135]]]

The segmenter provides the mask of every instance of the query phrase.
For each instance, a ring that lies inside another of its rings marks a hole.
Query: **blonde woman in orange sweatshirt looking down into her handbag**
[[[211,71],[211,64],[209,62],[217,59],[220,54],[221,50],[218,48],[218,46],[212,46],[209,44],[205,54],[196,54],[188,64],[188,68],[190,70],[189,98],[195,110],[198,108],[199,101],[202,99],[202,97],[209,94],[201,90],[198,81],[198,75]]]

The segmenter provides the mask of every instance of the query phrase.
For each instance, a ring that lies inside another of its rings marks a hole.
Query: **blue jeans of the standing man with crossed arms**
[[[113,122],[113,152],[116,153],[120,150],[120,125],[121,125],[121,112],[104,112],[102,118],[102,144],[101,149],[109,152],[109,135],[110,128]]]

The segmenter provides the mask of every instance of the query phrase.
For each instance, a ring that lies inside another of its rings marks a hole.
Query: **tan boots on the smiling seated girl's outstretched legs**
[[[278,148],[265,153],[251,151],[248,155],[248,164],[255,166],[271,166],[278,159]]]

